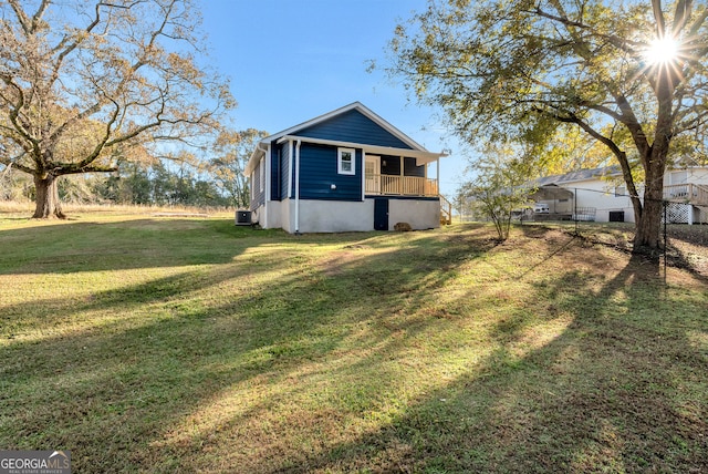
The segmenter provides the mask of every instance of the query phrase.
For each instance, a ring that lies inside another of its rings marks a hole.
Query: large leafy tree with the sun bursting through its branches
[[[705,144],[707,17],[691,0],[430,1],[388,69],[471,143],[577,127],[622,168],[635,249],[657,247],[670,145]]]

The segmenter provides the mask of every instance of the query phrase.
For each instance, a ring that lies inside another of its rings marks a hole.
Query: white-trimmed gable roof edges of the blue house
[[[343,107],[336,109],[336,110],[334,110],[332,112],[327,112],[327,113],[325,113],[323,115],[316,116],[316,117],[311,118],[311,120],[309,120],[306,122],[302,122],[302,123],[300,123],[298,125],[293,125],[293,126],[291,126],[289,128],[285,128],[285,130],[281,131],[281,132],[278,132],[278,133],[275,133],[273,135],[267,136],[266,138],[261,140],[259,142],[258,146],[256,147],[256,150],[253,151],[253,154],[251,155],[248,164],[246,165],[244,174],[248,175],[248,174],[251,173],[251,171],[253,171],[256,168],[256,165],[257,165],[258,161],[266,153],[264,146],[267,146],[269,143],[278,142],[278,141],[282,142],[284,140],[295,140],[295,138],[304,138],[304,140],[309,138],[308,141],[322,143],[322,144],[334,144],[334,143],[337,143],[339,141],[319,140],[319,138],[308,137],[305,135],[306,135],[308,131],[312,131],[317,125],[322,125],[325,122],[331,121],[332,118],[346,115],[347,113],[351,113],[352,111],[356,111],[356,112],[361,113],[362,115],[364,115],[366,118],[371,120],[373,123],[375,123],[376,125],[382,127],[385,132],[387,132],[392,136],[394,136],[397,142],[402,143],[406,147],[409,147],[409,150],[400,148],[400,147],[392,147],[392,146],[377,146],[375,144],[365,144],[365,143],[361,143],[360,144],[360,143],[342,142],[342,144],[346,144],[347,146],[366,145],[367,148],[373,148],[373,150],[376,150],[376,151],[378,151],[381,153],[385,153],[386,151],[391,151],[393,153],[393,151],[407,150],[407,155],[414,156],[414,157],[428,156],[428,155],[429,156],[435,155],[436,157],[445,156],[445,154],[442,154],[442,153],[430,153],[430,152],[428,152],[423,145],[420,145],[419,143],[417,143],[413,138],[410,138],[408,135],[406,135],[405,133],[403,133],[402,131],[399,131],[395,126],[393,126],[391,123],[386,122],[384,118],[378,116],[376,113],[374,113],[371,109],[366,107],[361,102],[353,102],[353,103],[351,103],[348,105],[345,105]],[[300,132],[304,132],[305,135],[299,135]],[[430,157],[428,159],[430,159]]]

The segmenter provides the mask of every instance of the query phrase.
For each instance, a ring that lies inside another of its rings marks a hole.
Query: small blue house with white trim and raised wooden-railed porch
[[[246,166],[252,218],[289,233],[439,227],[442,156],[355,102],[258,144]]]

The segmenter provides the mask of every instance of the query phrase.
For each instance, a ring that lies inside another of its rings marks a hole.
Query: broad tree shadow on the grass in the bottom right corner
[[[466,374],[269,472],[705,472],[708,358],[688,337],[708,330],[701,301],[657,296],[645,265],[633,257],[596,291],[584,275],[556,276],[546,295],[571,319],[553,339],[534,347],[529,315],[511,315]],[[676,311],[683,302],[698,312]]]

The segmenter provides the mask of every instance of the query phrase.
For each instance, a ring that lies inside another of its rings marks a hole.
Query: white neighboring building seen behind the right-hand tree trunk
[[[535,184],[539,190],[532,198],[549,205],[548,218],[635,221],[632,202],[616,166],[546,176]],[[642,196],[643,192],[638,192]],[[670,203],[667,221],[708,224],[708,166],[666,172],[664,199]]]

